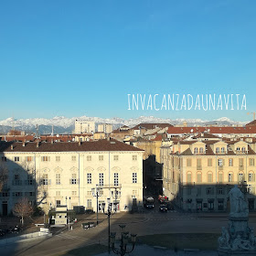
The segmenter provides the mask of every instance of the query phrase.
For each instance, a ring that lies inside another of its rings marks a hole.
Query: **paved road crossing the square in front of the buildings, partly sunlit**
[[[138,236],[165,233],[220,233],[222,226],[228,226],[227,217],[226,213],[185,214],[177,211],[162,213],[156,209],[140,214],[117,213],[111,217],[111,231],[119,234],[119,225],[126,224],[127,230]],[[94,215],[90,221],[95,219]],[[100,215],[100,219],[101,223],[95,228],[81,229],[81,223],[77,223],[73,226],[73,230],[60,229],[53,237],[46,240],[23,241],[0,247],[0,255],[56,255],[85,245],[107,244],[108,220],[105,215]],[[255,214],[251,215],[249,223],[256,229]]]

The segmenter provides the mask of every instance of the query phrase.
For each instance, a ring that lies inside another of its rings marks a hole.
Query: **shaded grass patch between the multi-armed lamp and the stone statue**
[[[179,250],[186,248],[199,250],[217,250],[220,234],[160,234],[138,237],[138,243],[149,246],[163,246]]]

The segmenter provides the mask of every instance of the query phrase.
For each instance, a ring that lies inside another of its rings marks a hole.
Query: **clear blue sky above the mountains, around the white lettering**
[[[250,120],[256,2],[1,1],[0,120]],[[127,94],[246,94],[247,110],[128,111]]]

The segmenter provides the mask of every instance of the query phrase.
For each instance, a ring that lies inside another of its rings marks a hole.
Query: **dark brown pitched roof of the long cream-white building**
[[[13,145],[13,150],[11,149]],[[76,151],[144,151],[129,144],[111,139],[74,143],[22,143],[0,142],[0,152],[76,152]]]

